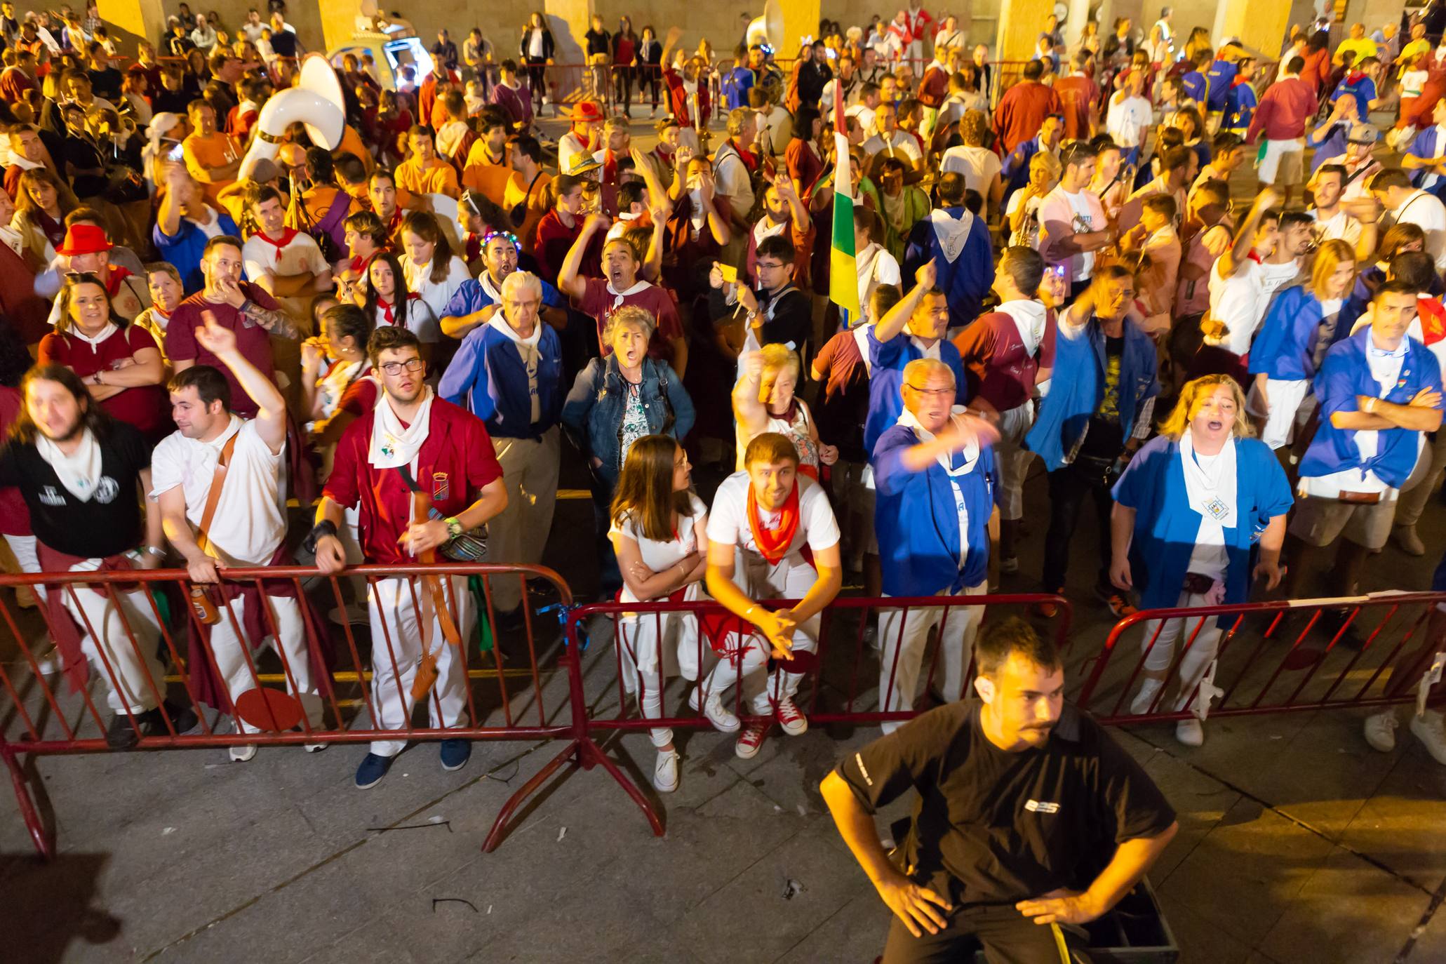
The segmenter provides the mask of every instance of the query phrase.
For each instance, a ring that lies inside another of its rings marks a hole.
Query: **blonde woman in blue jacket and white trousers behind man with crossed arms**
[[[1326,348],[1335,343],[1340,305],[1355,286],[1355,251],[1339,238],[1316,249],[1310,282],[1287,288],[1265,312],[1251,343],[1248,408],[1261,441],[1283,448],[1310,380]]]

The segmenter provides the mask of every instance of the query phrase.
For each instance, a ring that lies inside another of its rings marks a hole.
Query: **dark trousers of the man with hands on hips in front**
[[[1087,939],[1069,924],[1038,925],[1012,906],[960,908],[938,934],[914,937],[895,916],[881,964],[957,964],[972,961],[983,945],[989,964],[1089,964]],[[1060,952],[1058,941],[1069,948]]]

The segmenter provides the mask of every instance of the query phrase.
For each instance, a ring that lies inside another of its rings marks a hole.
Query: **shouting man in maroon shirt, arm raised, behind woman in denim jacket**
[[[604,358],[612,351],[607,344],[603,344],[603,328],[607,325],[607,317],[623,305],[636,305],[645,309],[658,319],[658,327],[648,343],[648,357],[667,361],[681,379],[688,364],[688,343],[683,337],[678,309],[667,291],[638,276],[642,260],[632,241],[615,237],[603,246],[604,277],[584,277],[580,273],[583,254],[593,243],[593,236],[599,231],[606,234],[609,223],[606,214],[587,215],[581,234],[577,236],[567,257],[562,259],[562,270],[558,272],[557,277],[558,291],[571,298],[580,312],[591,315],[597,322],[597,341]],[[654,230],[664,230],[664,223],[658,223]]]

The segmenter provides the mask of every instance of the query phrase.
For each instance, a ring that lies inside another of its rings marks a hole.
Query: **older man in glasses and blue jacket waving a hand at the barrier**
[[[999,475],[980,418],[954,412],[954,371],[937,358],[904,366],[904,412],[873,445],[873,520],[885,595],[982,595],[998,538]],[[879,614],[879,710],[910,711],[930,630],[940,626],[943,698],[963,698],[967,653],[983,610],[912,607]],[[892,733],[899,721],[884,723]]]

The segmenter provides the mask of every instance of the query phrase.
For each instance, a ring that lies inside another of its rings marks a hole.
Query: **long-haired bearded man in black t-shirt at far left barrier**
[[[140,431],[111,419],[64,366],[36,366],[20,382],[23,408],[0,449],[0,486],[16,486],[30,512],[42,572],[155,569],[165,558],[161,513],[150,490],[150,451]],[[137,486],[140,493],[137,493]],[[156,659],[161,626],[145,587],[51,585],[49,629],[72,691],[85,688],[87,660],[106,682],[116,714],[106,743],[129,750],[142,737],[185,733],[189,710],[169,702]]]

